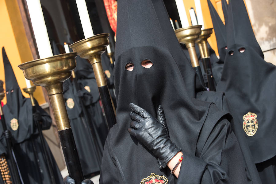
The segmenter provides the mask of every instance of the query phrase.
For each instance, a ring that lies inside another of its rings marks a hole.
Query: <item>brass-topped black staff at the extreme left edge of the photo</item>
[[[4,113],[2,110],[2,100],[5,97],[5,93],[1,92],[0,93],[0,115],[1,115],[1,122],[2,122],[2,127],[3,127],[3,131],[5,132],[5,134],[10,134],[9,130],[7,130],[7,126],[6,126],[6,122],[5,122],[5,117],[4,117]],[[16,159],[14,157],[14,153],[13,153],[13,148],[12,148],[12,141],[11,138],[9,136],[5,136],[6,138],[6,144],[7,144],[7,148],[8,148],[8,154],[7,154],[7,159],[10,160],[10,171],[11,171],[11,178],[13,183],[22,183],[21,181],[21,177],[20,177],[20,172],[17,166],[17,162]],[[3,174],[2,174],[3,175]],[[3,178],[6,179],[6,178]]]

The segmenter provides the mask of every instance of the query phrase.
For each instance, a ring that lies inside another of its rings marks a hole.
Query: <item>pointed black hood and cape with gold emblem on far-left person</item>
[[[29,98],[22,95],[4,47],[2,48],[2,56],[7,98],[3,112],[8,130],[10,130],[15,141],[20,143],[32,134],[37,134],[37,129],[33,127],[32,104]]]

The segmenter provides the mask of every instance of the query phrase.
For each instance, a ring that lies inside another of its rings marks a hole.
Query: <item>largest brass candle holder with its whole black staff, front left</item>
[[[80,184],[84,176],[62,94],[64,80],[71,76],[72,70],[76,67],[76,56],[77,53],[60,54],[29,61],[18,67],[23,70],[26,79],[46,88],[56,119],[69,176],[75,179],[76,184]]]

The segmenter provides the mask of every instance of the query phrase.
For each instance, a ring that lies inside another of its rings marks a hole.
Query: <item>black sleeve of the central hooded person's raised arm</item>
[[[177,183],[247,183],[243,156],[228,120],[221,119],[205,135],[208,128],[203,125],[199,135],[198,157],[183,153]]]

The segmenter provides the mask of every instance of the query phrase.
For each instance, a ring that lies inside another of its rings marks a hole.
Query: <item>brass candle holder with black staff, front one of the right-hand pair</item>
[[[189,27],[176,29],[174,33],[178,41],[186,45],[189,51],[192,67],[196,71],[200,83],[205,87],[195,49],[195,41],[199,38],[199,35],[201,34],[201,27],[202,25],[192,25]]]

